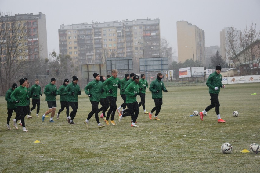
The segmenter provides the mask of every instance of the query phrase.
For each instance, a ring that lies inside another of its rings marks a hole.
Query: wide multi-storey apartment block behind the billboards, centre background
[[[102,63],[103,50],[107,49],[116,52],[118,57],[133,57],[134,70],[139,70],[136,66],[143,50],[148,56],[159,47],[158,18],[62,24],[59,29],[60,53],[69,54],[74,64]]]

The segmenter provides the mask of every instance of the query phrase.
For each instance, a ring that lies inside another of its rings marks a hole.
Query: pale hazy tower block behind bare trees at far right
[[[220,55],[222,56],[222,58],[225,60],[225,62],[227,64],[230,63],[229,55],[227,53],[227,46],[226,46],[226,37],[227,37],[227,33],[228,33],[229,29],[230,28],[227,27],[227,28],[222,29],[222,31],[219,32],[219,35],[220,35]],[[237,30],[235,28],[235,30],[234,30],[234,34],[236,34],[235,39],[239,38],[240,33],[241,33],[241,31]]]

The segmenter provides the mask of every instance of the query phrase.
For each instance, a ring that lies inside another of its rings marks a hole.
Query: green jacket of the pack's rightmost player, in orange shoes
[[[159,90],[157,93],[156,91]],[[149,91],[152,92],[152,99],[160,99],[162,98],[162,91],[165,92],[166,88],[164,86],[163,81],[159,81],[157,78],[151,82]]]

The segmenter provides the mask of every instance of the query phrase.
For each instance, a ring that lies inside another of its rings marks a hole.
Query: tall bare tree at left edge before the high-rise
[[[16,20],[10,13],[0,12],[0,16],[0,82],[5,92],[22,77],[20,71],[28,61],[28,34],[26,21]]]

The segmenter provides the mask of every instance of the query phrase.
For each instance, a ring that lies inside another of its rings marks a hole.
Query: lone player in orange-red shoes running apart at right
[[[200,119],[203,121],[203,116],[206,112],[208,112],[210,109],[215,107],[215,111],[218,117],[218,123],[225,123],[226,121],[220,118],[219,114],[219,101],[218,101],[218,93],[220,92],[220,88],[225,88],[225,85],[222,84],[222,75],[221,72],[221,66],[218,64],[216,66],[216,71],[211,73],[208,77],[208,80],[206,82],[206,85],[208,86],[209,95],[211,97],[211,104],[206,107],[206,109],[202,112],[200,112]]]

